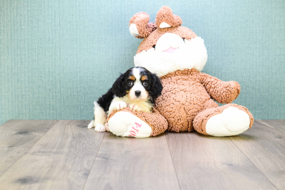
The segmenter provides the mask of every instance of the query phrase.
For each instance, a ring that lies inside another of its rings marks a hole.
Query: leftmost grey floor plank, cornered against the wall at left
[[[9,120],[0,126],[0,176],[57,120]]]

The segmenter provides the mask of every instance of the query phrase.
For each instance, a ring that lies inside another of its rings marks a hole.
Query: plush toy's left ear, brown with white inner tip
[[[129,30],[136,38],[145,38],[156,29],[156,25],[149,22],[149,15],[139,12],[130,19]]]

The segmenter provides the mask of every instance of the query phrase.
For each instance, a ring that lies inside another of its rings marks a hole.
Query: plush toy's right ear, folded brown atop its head
[[[174,27],[181,25],[182,19],[177,15],[173,15],[169,6],[163,6],[156,14],[155,24],[159,28]]]

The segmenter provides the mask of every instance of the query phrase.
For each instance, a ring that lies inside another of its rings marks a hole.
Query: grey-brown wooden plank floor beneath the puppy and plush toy
[[[243,134],[118,137],[89,120],[0,126],[0,189],[285,189],[285,120]]]

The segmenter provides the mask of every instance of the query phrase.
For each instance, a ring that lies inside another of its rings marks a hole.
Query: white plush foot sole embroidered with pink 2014
[[[152,128],[132,113],[119,111],[108,121],[108,129],[117,136],[149,137]]]

